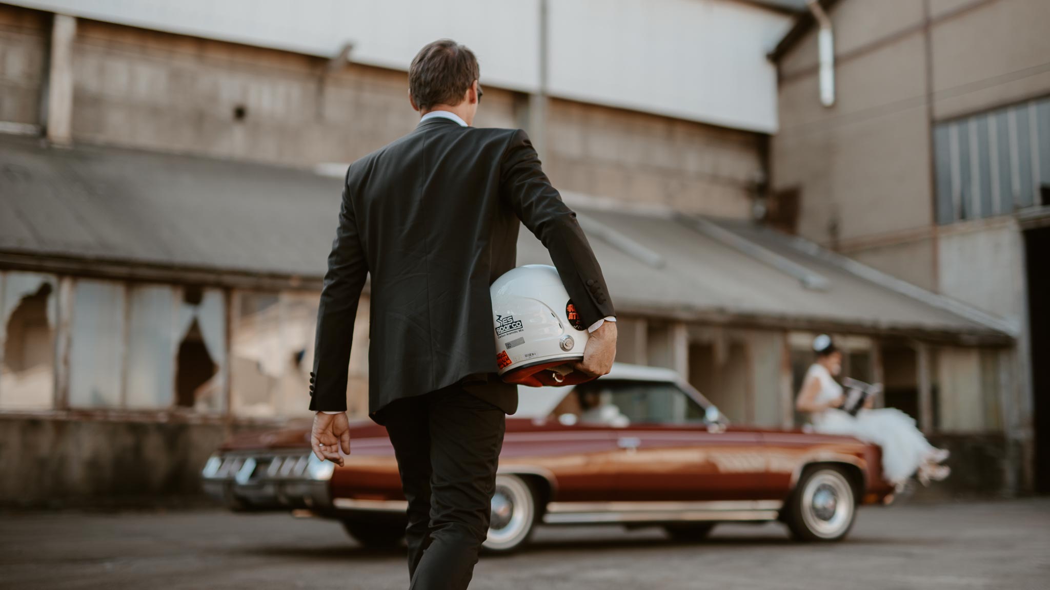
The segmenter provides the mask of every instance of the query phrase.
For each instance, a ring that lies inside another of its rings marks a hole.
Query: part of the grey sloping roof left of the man
[[[340,186],[309,170],[0,135],[0,252],[57,271],[309,286],[324,274]]]

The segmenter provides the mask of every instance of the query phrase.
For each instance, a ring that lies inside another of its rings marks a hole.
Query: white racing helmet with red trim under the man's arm
[[[496,360],[504,381],[540,387],[591,379],[572,371],[572,363],[584,358],[587,326],[554,267],[518,267],[489,289]]]

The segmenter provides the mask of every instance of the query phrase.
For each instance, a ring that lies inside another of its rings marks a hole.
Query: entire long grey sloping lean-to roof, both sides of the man
[[[340,185],[307,170],[0,135],[0,264],[317,289]],[[998,318],[774,230],[566,199],[620,313],[964,343],[1015,336]],[[524,229],[518,260],[550,264]]]

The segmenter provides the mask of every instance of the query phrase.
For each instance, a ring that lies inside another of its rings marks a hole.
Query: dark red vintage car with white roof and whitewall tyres
[[[345,467],[314,458],[308,438],[234,438],[208,460],[205,489],[235,509],[293,509],[337,519],[364,545],[398,543],[405,502],[385,429],[354,425]],[[517,549],[538,524],[662,526],[695,540],[719,522],[779,520],[796,539],[837,541],[859,504],[892,500],[880,457],[852,438],[731,425],[676,373],[616,364],[574,387],[522,387],[485,547]]]

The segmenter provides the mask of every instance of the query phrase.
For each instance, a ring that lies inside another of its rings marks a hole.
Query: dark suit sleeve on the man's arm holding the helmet
[[[576,222],[576,214],[550,185],[532,143],[521,129],[514,131],[503,153],[500,185],[518,218],[550,253],[584,325],[616,315],[602,268]]]

